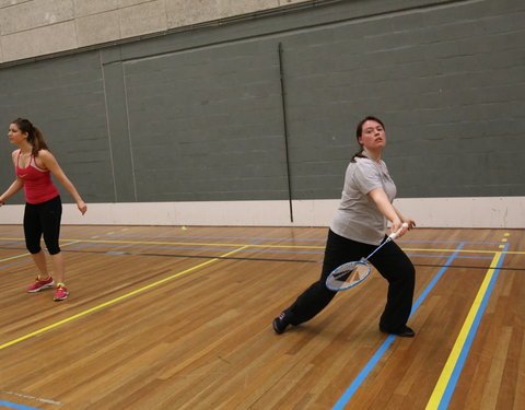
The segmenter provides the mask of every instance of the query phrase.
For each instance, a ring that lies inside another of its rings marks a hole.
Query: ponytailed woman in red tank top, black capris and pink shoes
[[[88,207],[47,149],[44,136],[38,128],[27,119],[18,118],[9,126],[8,137],[9,142],[19,147],[12,153],[16,179],[0,196],[0,207],[14,194],[24,189],[25,244],[39,272],[36,281],[26,290],[38,292],[55,285],[55,280],[47,270],[46,256],[40,248],[40,238],[44,236],[55,270],[54,300],[63,301],[69,292],[65,284],[63,258],[58,243],[62,204],[59,191],[51,180],[51,174],[71,194],[82,214]]]

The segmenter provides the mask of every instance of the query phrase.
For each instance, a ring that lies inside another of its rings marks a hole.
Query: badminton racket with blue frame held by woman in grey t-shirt
[[[385,244],[398,237],[402,231],[402,227],[408,227],[408,223],[404,223],[398,231],[390,234],[380,246],[375,248],[372,254],[370,254],[363,260],[343,263],[336,268],[328,276],[328,278],[326,278],[326,288],[328,288],[330,291],[346,291],[347,289],[353,288],[364,281],[372,271],[372,267],[366,261]]]

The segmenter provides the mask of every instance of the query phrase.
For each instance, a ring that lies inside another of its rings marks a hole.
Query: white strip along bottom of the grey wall
[[[71,225],[328,226],[338,199],[218,202],[89,203],[81,215],[63,204]],[[421,227],[525,229],[525,197],[401,198],[395,206]],[[0,208],[0,224],[21,224],[24,206]]]

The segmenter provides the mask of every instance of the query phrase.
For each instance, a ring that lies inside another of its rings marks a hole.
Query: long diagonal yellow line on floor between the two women
[[[27,340],[27,339],[30,339],[30,338],[32,338],[32,337],[34,337],[34,336],[38,336],[38,335],[40,335],[40,333],[44,333],[44,332],[47,331],[47,330],[50,330],[50,329],[54,329],[54,328],[59,327],[59,326],[61,326],[61,325],[65,325],[65,324],[67,324],[67,323],[69,323],[69,321],[72,321],[72,320],[74,320],[74,319],[78,319],[79,317],[89,315],[90,313],[93,313],[93,312],[95,312],[95,311],[100,311],[100,309],[102,309],[103,307],[113,305],[113,304],[115,304],[115,303],[117,303],[117,302],[120,302],[120,301],[122,301],[122,300],[125,300],[125,298],[128,298],[128,297],[133,296],[133,295],[136,295],[136,294],[138,294],[138,293],[141,293],[141,292],[143,292],[143,291],[147,291],[147,290],[149,290],[149,289],[151,289],[151,288],[158,286],[159,284],[162,284],[162,283],[164,283],[164,282],[167,282],[167,281],[170,281],[170,280],[172,280],[172,279],[178,278],[178,277],[180,277],[180,276],[183,276],[183,274],[185,274],[185,273],[191,272],[191,271],[194,271],[194,270],[196,270],[196,269],[199,269],[199,268],[202,268],[202,267],[205,267],[205,266],[207,266],[207,265],[210,265],[210,263],[212,263],[212,262],[214,262],[214,261],[217,261],[217,260],[221,260],[221,258],[225,258],[225,257],[228,257],[228,256],[230,256],[230,255],[232,255],[232,254],[234,254],[234,253],[236,253],[236,251],[240,251],[240,250],[242,250],[242,249],[244,249],[244,248],[245,248],[245,246],[244,246],[244,247],[241,247],[241,248],[238,248],[238,249],[231,250],[231,251],[229,251],[229,253],[226,253],[226,254],[224,254],[224,255],[221,255],[221,256],[219,256],[219,257],[217,257],[217,258],[207,260],[206,262],[196,265],[196,266],[194,266],[194,267],[191,267],[191,268],[189,268],[189,269],[183,270],[183,271],[177,272],[177,273],[175,273],[175,274],[172,274],[172,276],[170,276],[170,277],[167,277],[167,278],[161,279],[160,281],[156,281],[156,282],[154,282],[154,283],[150,283],[150,284],[148,284],[148,285],[145,285],[145,286],[142,286],[142,288],[140,288],[140,289],[137,289],[137,290],[135,290],[135,291],[132,291],[132,292],[126,293],[125,295],[121,295],[121,296],[118,296],[118,297],[113,298],[113,300],[110,300],[110,301],[104,302],[104,303],[102,303],[102,304],[100,304],[100,305],[97,305],[97,306],[94,306],[94,307],[92,307],[92,308],[90,308],[90,309],[88,309],[88,311],[84,311],[84,312],[81,312],[81,313],[79,313],[79,314],[77,314],[77,315],[67,317],[66,319],[59,320],[59,321],[57,321],[57,323],[55,323],[55,324],[52,324],[52,325],[43,327],[43,328],[40,328],[40,329],[38,329],[38,330],[32,331],[31,333],[27,333],[27,335],[25,335],[25,336],[22,336],[22,337],[20,337],[20,338],[18,338],[18,339],[14,339],[14,340],[11,340],[11,341],[9,341],[9,342],[7,342],[7,343],[0,344],[0,350],[5,349],[5,348],[9,348],[10,345],[16,344],[16,343],[19,343],[19,342],[21,342],[21,341],[23,341],[23,340]]]

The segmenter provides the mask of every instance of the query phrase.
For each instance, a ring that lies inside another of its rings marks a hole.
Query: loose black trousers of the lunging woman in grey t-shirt
[[[299,325],[323,311],[337,293],[326,288],[328,274],[342,263],[365,258],[376,247],[348,239],[329,230],[320,278],[285,311],[290,315],[290,323]],[[383,246],[369,261],[388,281],[386,306],[380,327],[390,332],[402,330],[412,309],[416,284],[413,265],[395,242]]]

